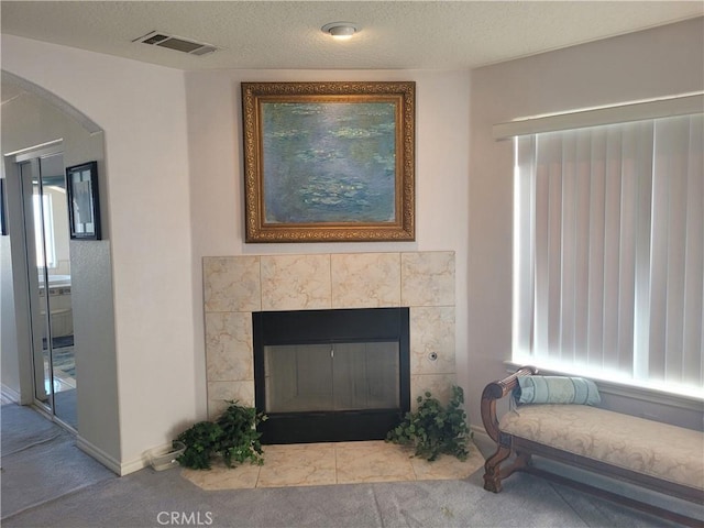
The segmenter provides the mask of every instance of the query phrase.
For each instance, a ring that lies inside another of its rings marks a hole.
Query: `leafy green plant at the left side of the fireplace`
[[[266,419],[252,407],[243,407],[237,402],[229,406],[213,421],[199,421],[182,432],[176,440],[184,442],[186,450],[178,457],[178,463],[194,470],[209,470],[215,457],[222,457],[226,465],[246,460],[253,464],[264,463],[261,432],[256,426]]]

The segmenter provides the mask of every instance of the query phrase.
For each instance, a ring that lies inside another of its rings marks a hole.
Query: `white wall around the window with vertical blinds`
[[[469,201],[470,399],[505,375],[512,334],[512,142],[492,125],[514,118],[704,89],[703,19],[536,55],[472,72]],[[614,402],[614,405],[617,403]],[[630,402],[626,411],[642,413]],[[635,407],[635,408],[634,408]],[[701,413],[662,420],[701,427]]]

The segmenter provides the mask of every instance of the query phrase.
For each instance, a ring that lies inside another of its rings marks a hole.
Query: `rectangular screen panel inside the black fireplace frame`
[[[266,413],[398,408],[398,342],[264,348]]]

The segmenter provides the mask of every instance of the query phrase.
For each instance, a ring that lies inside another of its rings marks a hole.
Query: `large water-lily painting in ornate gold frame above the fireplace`
[[[415,240],[415,82],[242,82],[246,242]]]

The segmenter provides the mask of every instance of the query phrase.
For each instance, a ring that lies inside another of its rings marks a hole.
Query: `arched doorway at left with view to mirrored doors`
[[[76,286],[105,263],[95,257],[96,246],[69,240],[65,174],[87,161],[105,168],[102,131],[56,96],[7,72],[2,98],[9,232],[0,240],[3,396],[9,392],[11,400],[34,405],[81,435],[80,378],[90,378],[96,348],[86,317],[92,317],[88,307],[95,302],[90,287],[77,293]],[[108,242],[100,242],[100,255],[109,254]],[[97,317],[103,316],[112,328],[112,311]],[[105,339],[113,351],[114,338]],[[87,426],[95,429],[90,420]]]

